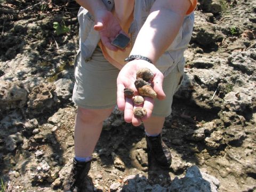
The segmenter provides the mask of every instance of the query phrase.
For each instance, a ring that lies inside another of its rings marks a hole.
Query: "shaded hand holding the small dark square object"
[[[99,31],[101,42],[109,50],[117,51],[118,47],[111,44],[115,37],[119,34],[127,35],[121,28],[117,18],[107,10],[99,10],[95,15],[94,30]]]

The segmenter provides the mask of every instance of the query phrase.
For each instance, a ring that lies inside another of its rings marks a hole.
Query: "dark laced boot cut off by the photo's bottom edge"
[[[63,183],[63,189],[65,192],[79,192],[83,191],[85,187],[84,182],[87,178],[87,174],[91,169],[91,161],[78,162],[73,159],[73,165],[71,172]]]

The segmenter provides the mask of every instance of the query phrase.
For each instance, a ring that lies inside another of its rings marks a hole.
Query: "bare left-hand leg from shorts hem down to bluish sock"
[[[78,107],[75,123],[75,155],[89,157],[97,144],[103,121],[113,108],[84,109]]]

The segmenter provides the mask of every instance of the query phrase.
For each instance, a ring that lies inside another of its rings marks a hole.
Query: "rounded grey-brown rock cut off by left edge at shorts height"
[[[20,81],[0,80],[0,108],[9,110],[22,108],[26,105],[27,91]]]

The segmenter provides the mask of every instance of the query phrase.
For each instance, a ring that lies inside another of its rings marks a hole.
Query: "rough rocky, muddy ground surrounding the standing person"
[[[79,6],[0,2],[0,189],[61,191],[74,156]],[[198,2],[185,76],[163,129],[171,169],[148,162],[143,125],[125,123],[115,109],[93,153],[95,191],[185,191],[191,183],[181,178],[193,165],[215,187],[195,191],[256,191],[255,5]]]

